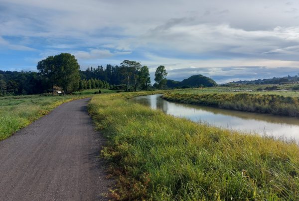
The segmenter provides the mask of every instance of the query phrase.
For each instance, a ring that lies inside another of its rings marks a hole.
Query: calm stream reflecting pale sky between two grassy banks
[[[284,136],[299,142],[299,119],[297,118],[173,103],[161,99],[160,96],[161,94],[141,96],[132,100],[153,109],[159,109],[166,114],[184,117],[195,122],[204,122],[246,133]]]

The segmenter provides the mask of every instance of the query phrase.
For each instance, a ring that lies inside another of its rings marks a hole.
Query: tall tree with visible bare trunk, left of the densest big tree
[[[54,94],[54,85],[58,83],[59,69],[56,65],[54,56],[48,56],[37,63],[37,70],[49,79],[52,85],[52,94]]]

